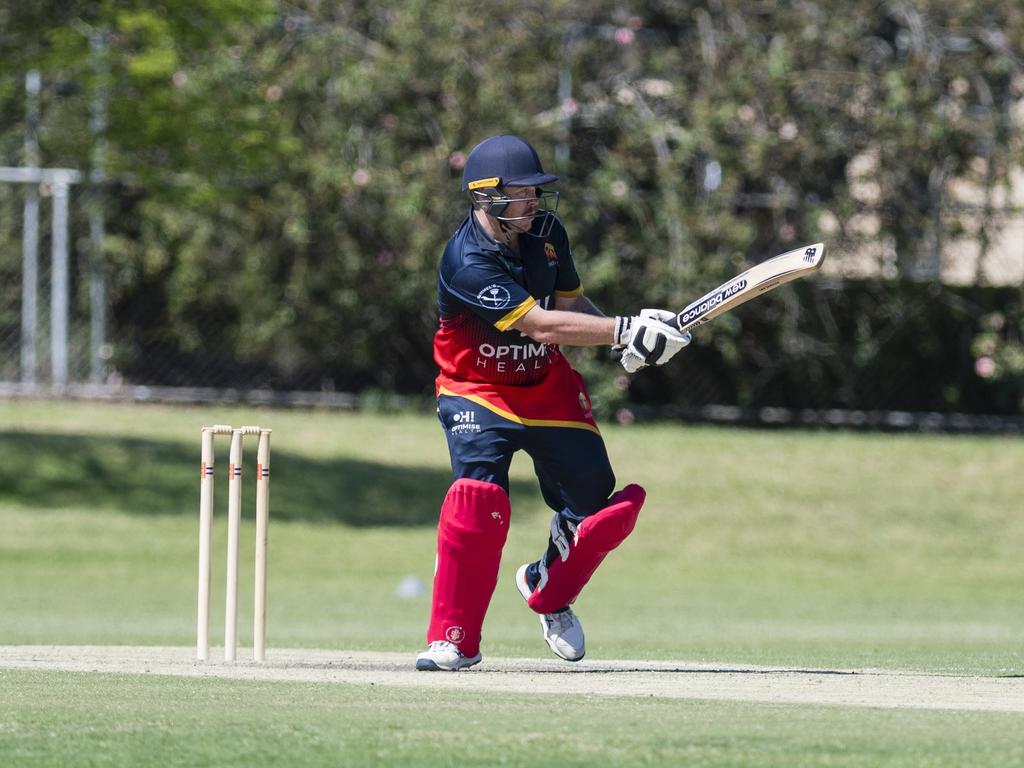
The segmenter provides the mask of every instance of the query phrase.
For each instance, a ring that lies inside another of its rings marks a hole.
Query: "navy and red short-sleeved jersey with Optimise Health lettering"
[[[519,248],[517,257],[472,213],[449,241],[437,278],[437,392],[510,416],[592,424],[586,390],[558,346],[511,328],[537,305],[583,293],[568,236],[556,219],[547,238],[520,237]]]

